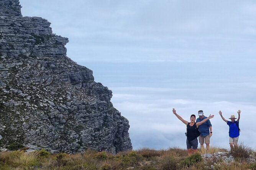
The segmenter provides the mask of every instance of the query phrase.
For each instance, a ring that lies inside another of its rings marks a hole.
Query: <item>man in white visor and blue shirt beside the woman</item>
[[[203,111],[198,111],[199,118],[197,118],[196,122],[201,122],[203,119],[207,119],[206,116],[203,115]],[[206,144],[206,149],[208,150],[210,147],[210,137],[212,136],[212,124],[210,120],[207,120],[199,127],[200,136],[199,143],[201,145],[201,149],[203,149],[203,144]]]

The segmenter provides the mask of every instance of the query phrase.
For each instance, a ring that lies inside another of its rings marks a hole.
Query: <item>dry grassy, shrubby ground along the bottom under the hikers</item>
[[[234,161],[203,156],[216,152],[228,152]],[[187,156],[187,150],[181,148],[141,148],[116,155],[92,150],[79,154],[18,150],[0,152],[0,170],[256,170],[256,163],[248,162],[248,157],[255,159],[256,152],[243,144],[232,152],[212,147],[208,151],[199,149],[192,156]]]

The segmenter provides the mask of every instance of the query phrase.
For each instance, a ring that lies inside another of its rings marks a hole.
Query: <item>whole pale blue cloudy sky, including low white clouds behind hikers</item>
[[[228,119],[241,110],[239,142],[255,148],[254,0],[20,0],[23,16],[69,38],[67,56],[94,72],[129,120],[133,149],[186,148],[187,121],[203,110],[210,145],[229,147]],[[252,140],[253,139],[253,140]]]

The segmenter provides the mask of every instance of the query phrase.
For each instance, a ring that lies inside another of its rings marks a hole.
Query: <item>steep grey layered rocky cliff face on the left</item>
[[[0,146],[132,149],[128,120],[110,102],[112,91],[66,56],[68,38],[20,9],[19,0],[0,0]]]

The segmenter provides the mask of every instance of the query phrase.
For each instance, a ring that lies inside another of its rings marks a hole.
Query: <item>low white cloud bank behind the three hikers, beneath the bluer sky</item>
[[[143,93],[143,95],[145,94]],[[143,146],[156,149],[186,147],[184,135],[186,126],[172,113],[173,107],[187,121],[191,114],[197,115],[197,111],[200,109],[204,111],[205,116],[214,114],[215,117],[210,119],[213,125],[211,145],[225,147],[229,146],[228,125],[220,118],[218,111],[221,110],[223,116],[229,120],[231,114],[235,114],[237,117],[237,111],[240,109],[242,111],[240,119],[242,131],[239,141],[251,147],[255,145],[247,136],[256,135],[251,127],[251,124],[254,123],[253,119],[248,119],[254,116],[256,110],[256,106],[252,103],[175,99],[177,96],[169,96],[169,99],[164,96],[165,99],[162,100],[147,96],[146,100],[140,100],[140,97],[137,98],[134,94],[131,96],[133,98],[123,98],[122,100],[120,96],[115,98],[114,93],[112,103],[130,122],[129,133],[134,149]]]

